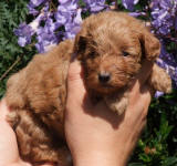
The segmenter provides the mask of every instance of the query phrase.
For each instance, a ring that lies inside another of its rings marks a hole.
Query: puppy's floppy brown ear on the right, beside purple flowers
[[[160,53],[160,43],[159,40],[154,37],[148,30],[144,30],[140,34],[140,45],[142,45],[142,53],[145,59],[149,61],[154,61],[158,58]]]

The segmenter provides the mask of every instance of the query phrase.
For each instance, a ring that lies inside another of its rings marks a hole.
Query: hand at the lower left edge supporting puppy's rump
[[[32,166],[20,158],[15,134],[6,116],[10,112],[3,98],[0,102],[0,166]],[[39,166],[53,166],[46,163]]]

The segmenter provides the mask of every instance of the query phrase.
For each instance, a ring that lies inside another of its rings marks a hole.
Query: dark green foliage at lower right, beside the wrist
[[[154,98],[147,126],[128,166],[177,165],[177,91]]]

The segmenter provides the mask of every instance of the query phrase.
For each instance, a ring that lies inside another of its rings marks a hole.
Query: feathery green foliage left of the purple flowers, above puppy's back
[[[13,33],[14,28],[27,19],[27,3],[28,0],[0,1],[0,98],[4,93],[8,75],[24,66],[34,54],[31,45],[19,46]],[[15,61],[18,64],[4,75]]]

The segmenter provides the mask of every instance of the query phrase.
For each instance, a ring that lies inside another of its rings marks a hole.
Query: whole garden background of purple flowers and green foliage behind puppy
[[[38,52],[74,38],[82,20],[102,10],[129,12],[162,42],[158,64],[171,76],[169,95],[156,93],[147,126],[128,166],[177,165],[177,0],[0,0],[0,98],[8,77]]]

